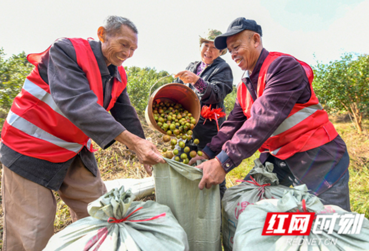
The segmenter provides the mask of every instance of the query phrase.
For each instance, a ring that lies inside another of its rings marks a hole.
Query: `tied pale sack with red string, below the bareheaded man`
[[[189,250],[186,233],[169,207],[134,198],[124,186],[110,190],[88,205],[91,216],[52,236],[44,251]]]

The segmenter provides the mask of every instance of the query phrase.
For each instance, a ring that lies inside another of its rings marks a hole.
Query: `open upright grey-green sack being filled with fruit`
[[[165,161],[154,166],[156,201],[170,207],[187,233],[191,251],[221,250],[219,185],[200,190],[202,170]]]

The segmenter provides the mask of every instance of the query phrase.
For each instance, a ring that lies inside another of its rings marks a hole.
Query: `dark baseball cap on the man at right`
[[[255,20],[237,18],[230,23],[227,31],[224,34],[219,35],[214,39],[214,45],[216,49],[223,50],[227,48],[227,37],[235,35],[243,30],[255,31],[256,33],[259,33],[260,36],[263,36],[262,27],[258,25]]]

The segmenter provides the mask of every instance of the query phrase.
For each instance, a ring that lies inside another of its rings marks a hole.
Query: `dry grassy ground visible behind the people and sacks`
[[[351,210],[364,213],[366,218],[369,218],[369,120],[364,120],[363,126],[366,128],[364,133],[358,134],[350,121],[345,121],[340,118],[332,117],[331,120],[338,133],[346,142],[350,155],[350,202]],[[157,145],[161,150],[164,146],[158,133],[152,131],[143,121],[143,127],[146,137]],[[96,160],[100,168],[101,177],[103,180],[113,180],[121,178],[144,178],[147,177],[143,171],[142,165],[138,162],[135,154],[126,149],[126,147],[115,143],[109,150],[99,150],[96,152]],[[238,184],[237,179],[242,179],[248,174],[251,168],[254,167],[254,160],[259,157],[259,154],[253,155],[251,158],[244,160],[241,165],[233,169],[226,176],[227,186]],[[57,214],[54,222],[55,232],[60,231],[71,223],[68,207],[60,200],[57,193]],[[154,196],[145,198],[145,200],[153,200]],[[3,210],[0,207],[0,214]],[[3,239],[3,218],[0,219],[1,241]],[[0,250],[1,248],[0,243]]]

